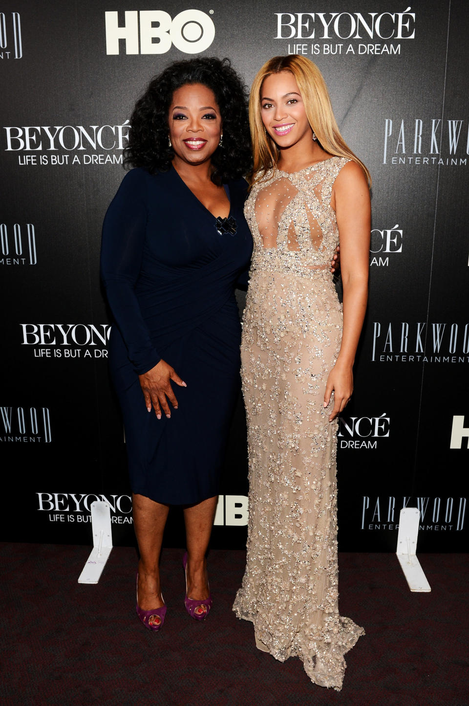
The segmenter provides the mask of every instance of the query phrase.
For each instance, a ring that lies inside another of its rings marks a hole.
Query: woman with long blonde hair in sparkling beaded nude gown
[[[339,615],[337,415],[367,301],[369,174],[340,136],[319,70],[274,57],[250,96],[254,255],[241,345],[248,557],[233,609],[260,650],[341,689],[363,628]],[[343,312],[329,273],[339,241]]]

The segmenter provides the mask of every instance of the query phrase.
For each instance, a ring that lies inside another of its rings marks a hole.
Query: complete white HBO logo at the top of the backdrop
[[[126,41],[126,54],[166,54],[174,44],[185,54],[204,52],[215,36],[214,23],[205,12],[184,10],[171,20],[164,10],[126,11],[125,25],[118,13],[106,12],[106,54],[119,53],[119,40]],[[140,32],[139,32],[140,20]]]

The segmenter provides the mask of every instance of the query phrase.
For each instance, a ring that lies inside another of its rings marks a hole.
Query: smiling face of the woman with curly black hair
[[[207,162],[221,137],[221,114],[213,91],[202,83],[187,83],[175,90],[168,125],[175,162]]]

